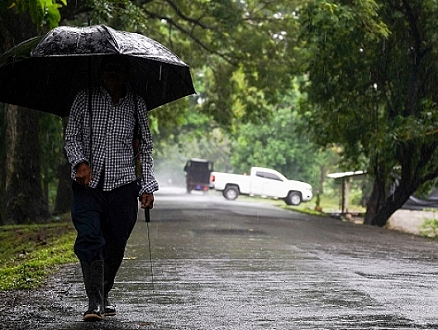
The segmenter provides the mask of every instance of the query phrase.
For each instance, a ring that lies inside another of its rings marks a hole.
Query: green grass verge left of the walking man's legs
[[[0,227],[0,292],[41,287],[61,265],[76,261],[70,220]]]

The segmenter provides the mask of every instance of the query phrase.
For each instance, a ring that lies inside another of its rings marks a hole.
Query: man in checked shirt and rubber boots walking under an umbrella
[[[130,91],[128,74],[126,58],[103,57],[102,84],[78,93],[65,133],[73,179],[72,220],[77,230],[74,251],[89,301],[84,321],[116,314],[108,293],[137,219],[137,198],[142,208],[152,208],[153,193],[158,190],[146,104]],[[140,180],[133,147],[136,132]]]

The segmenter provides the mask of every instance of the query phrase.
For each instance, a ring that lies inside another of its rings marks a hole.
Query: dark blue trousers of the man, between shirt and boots
[[[112,191],[86,188],[76,182],[72,188],[72,220],[78,233],[75,254],[88,263],[104,259],[112,264],[115,276],[137,220],[137,182]]]

